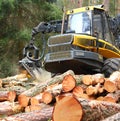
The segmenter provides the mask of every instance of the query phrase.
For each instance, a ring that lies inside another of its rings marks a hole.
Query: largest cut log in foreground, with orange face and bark
[[[52,117],[53,121],[100,121],[118,112],[119,104],[66,96],[57,101]]]

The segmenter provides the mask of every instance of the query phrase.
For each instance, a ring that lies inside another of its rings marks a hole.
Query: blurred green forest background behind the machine
[[[78,5],[78,1],[82,3]],[[107,7],[111,16],[120,13],[119,2],[109,0]],[[0,0],[0,78],[19,71],[23,48],[31,39],[32,28],[41,21],[62,19],[63,6],[70,9],[102,3],[103,0]],[[41,50],[40,37],[37,45]]]

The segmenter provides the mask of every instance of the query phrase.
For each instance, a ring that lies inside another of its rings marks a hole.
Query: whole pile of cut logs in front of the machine
[[[119,121],[120,72],[75,75],[45,82],[26,74],[0,79],[1,121]]]

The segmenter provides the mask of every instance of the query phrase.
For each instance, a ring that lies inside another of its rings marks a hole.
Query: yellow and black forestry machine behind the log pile
[[[63,18],[33,28],[20,60],[30,75],[35,77],[42,67],[52,74],[73,70],[76,74],[101,72],[109,76],[119,70],[120,15],[109,17],[101,5],[68,10]],[[43,35],[40,54],[34,44],[39,32]],[[56,34],[48,38],[46,45],[44,35],[50,32]]]

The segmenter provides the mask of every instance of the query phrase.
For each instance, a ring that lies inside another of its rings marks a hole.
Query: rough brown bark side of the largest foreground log
[[[120,112],[120,105],[105,101],[77,99],[83,107],[82,121],[100,121]]]

